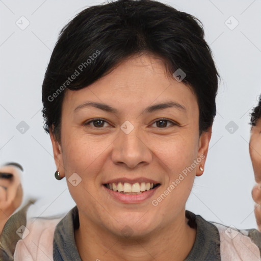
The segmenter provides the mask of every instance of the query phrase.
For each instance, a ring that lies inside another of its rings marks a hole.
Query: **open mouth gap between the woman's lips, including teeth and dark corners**
[[[160,185],[161,185],[160,183],[154,184],[149,182],[140,182],[140,183],[136,182],[134,184],[128,182],[103,184],[103,186],[105,186],[107,189],[122,194],[130,194],[130,195],[142,194],[148,190],[153,190],[154,188]]]

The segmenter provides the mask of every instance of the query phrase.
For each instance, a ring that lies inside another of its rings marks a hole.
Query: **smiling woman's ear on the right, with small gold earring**
[[[197,166],[196,176],[201,176],[204,172],[204,166],[205,166],[205,161],[206,161],[206,156],[208,151],[208,145],[210,144],[211,135],[212,135],[212,126],[209,127],[206,132],[203,132],[199,138],[197,159],[201,159],[201,161]],[[200,170],[200,167],[202,167],[203,170]]]

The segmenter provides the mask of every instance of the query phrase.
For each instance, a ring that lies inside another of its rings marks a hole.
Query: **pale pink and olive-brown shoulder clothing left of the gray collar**
[[[42,215],[46,205],[37,202],[32,201],[7,221],[1,236],[0,260],[53,260],[55,228],[67,212]]]

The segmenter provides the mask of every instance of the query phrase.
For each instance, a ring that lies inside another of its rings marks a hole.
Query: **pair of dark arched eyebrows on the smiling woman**
[[[81,108],[88,107],[88,106],[92,106],[94,108],[98,108],[98,109],[106,111],[106,112],[111,112],[111,113],[115,113],[115,114],[119,113],[119,111],[116,108],[113,108],[113,107],[106,105],[104,103],[91,102],[91,101],[85,102],[84,104],[77,106],[74,109],[74,112],[81,109]],[[163,109],[166,109],[166,108],[176,108],[176,109],[179,109],[179,110],[182,110],[182,111],[186,111],[186,108],[183,107],[182,105],[180,105],[179,103],[174,102],[174,101],[168,101],[168,102],[164,102],[164,103],[158,103],[156,105],[151,105],[151,106],[145,108],[142,111],[142,114],[143,113],[152,113],[152,112],[163,110]]]

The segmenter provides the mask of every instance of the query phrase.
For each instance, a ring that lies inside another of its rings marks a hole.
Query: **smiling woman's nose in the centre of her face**
[[[152,155],[149,142],[138,127],[134,127],[133,131],[128,134],[120,130],[112,151],[114,164],[136,168],[138,165],[151,163]]]

